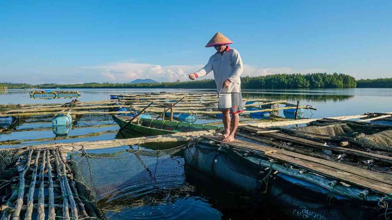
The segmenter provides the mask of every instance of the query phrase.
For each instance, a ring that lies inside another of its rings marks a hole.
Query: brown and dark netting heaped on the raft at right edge
[[[365,151],[392,153],[392,126],[359,121],[321,119],[303,127],[279,128],[312,141],[349,142]]]

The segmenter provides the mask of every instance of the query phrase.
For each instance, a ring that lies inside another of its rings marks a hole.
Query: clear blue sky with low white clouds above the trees
[[[391,1],[1,1],[0,81],[182,81],[217,31],[244,76],[391,77],[391,11]]]

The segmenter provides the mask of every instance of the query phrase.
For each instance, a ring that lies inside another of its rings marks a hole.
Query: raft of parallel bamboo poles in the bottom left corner
[[[56,210],[62,210],[60,217],[64,219],[88,217],[59,150],[23,149],[20,153],[24,157],[18,164],[23,168],[11,197],[2,206],[2,220],[31,220],[34,213],[40,220],[54,219],[58,217]]]

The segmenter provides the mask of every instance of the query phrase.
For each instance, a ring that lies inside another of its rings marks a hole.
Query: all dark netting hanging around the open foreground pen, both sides
[[[231,191],[264,201],[260,210],[268,207],[271,214],[260,211],[260,215],[298,220],[365,220],[377,219],[385,212],[377,202],[338,200],[318,188],[287,182],[278,171],[260,165],[261,159],[268,158],[248,155],[247,151],[225,145],[189,141],[167,150],[139,146],[114,153],[71,153],[70,168],[87,213],[100,219],[105,219],[99,210],[102,203],[113,205],[111,209],[116,209],[116,205],[153,204],[157,198],[167,199],[165,193],[159,192],[170,193],[172,189],[172,194],[181,194],[185,179],[200,171]]]

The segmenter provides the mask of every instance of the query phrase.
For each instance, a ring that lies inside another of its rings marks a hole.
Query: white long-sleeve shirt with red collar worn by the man
[[[211,71],[214,71],[218,92],[241,92],[240,76],[243,72],[243,64],[240,53],[236,49],[227,46],[223,54],[217,52],[212,55],[207,65],[196,72],[196,77],[203,77]],[[230,81],[229,88],[222,89],[222,84],[227,79]]]

